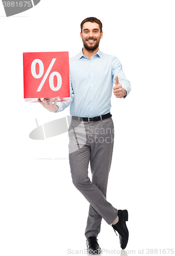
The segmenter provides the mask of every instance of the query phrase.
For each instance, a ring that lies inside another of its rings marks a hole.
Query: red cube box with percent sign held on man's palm
[[[38,98],[69,101],[69,52],[23,53],[24,98],[38,102]]]

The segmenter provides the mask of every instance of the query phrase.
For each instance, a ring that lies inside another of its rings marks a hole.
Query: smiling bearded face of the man
[[[98,23],[85,22],[80,33],[83,41],[83,46],[88,51],[94,51],[98,48],[100,39],[103,37],[103,32],[100,33]]]

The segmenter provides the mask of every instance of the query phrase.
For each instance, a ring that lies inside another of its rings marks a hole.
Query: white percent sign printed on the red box
[[[49,65],[49,68],[47,69],[45,75],[43,76],[42,78],[42,81],[41,83],[39,84],[39,87],[37,89],[37,92],[40,92],[40,90],[42,89],[42,86],[43,84],[45,83],[54,63],[55,63],[55,60],[56,59],[52,59],[50,65]],[[39,74],[37,75],[36,74],[36,63],[39,64]],[[44,66],[43,66],[43,62],[40,60],[40,59],[34,59],[32,61],[32,65],[31,65],[31,73],[32,73],[32,76],[34,78],[41,78],[41,76],[43,75],[44,73]],[[54,86],[54,76],[57,77],[57,86],[55,87]],[[58,72],[52,72],[50,74],[50,77],[49,77],[49,86],[51,88],[52,91],[56,92],[58,91],[60,88],[61,88],[61,85],[62,85],[62,78],[61,78],[61,75],[58,73]]]

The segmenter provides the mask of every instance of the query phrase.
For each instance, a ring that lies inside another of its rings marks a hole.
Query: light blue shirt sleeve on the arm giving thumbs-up
[[[126,96],[124,97],[126,98],[131,90],[131,86],[130,82],[126,79],[126,76],[122,69],[122,64],[117,57],[113,59],[112,66],[113,81],[114,83],[116,83],[115,77],[118,76],[119,83],[121,84],[122,88],[126,90]]]

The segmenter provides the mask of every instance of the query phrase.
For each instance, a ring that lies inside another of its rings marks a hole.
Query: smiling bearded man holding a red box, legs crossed
[[[80,37],[83,48],[70,58],[70,101],[59,104],[57,101],[53,103],[52,99],[39,102],[50,112],[62,111],[71,104],[69,160],[72,180],[90,203],[85,237],[89,253],[97,254],[101,252],[97,236],[102,218],[119,233],[122,249],[128,241],[128,212],[117,210],[107,202],[106,189],[114,141],[110,114],[112,90],[116,98],[125,98],[130,92],[130,83],[119,59],[99,50],[103,37],[99,19],[84,19]],[[88,177],[89,162],[92,181]]]

